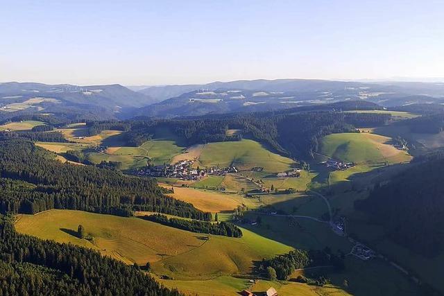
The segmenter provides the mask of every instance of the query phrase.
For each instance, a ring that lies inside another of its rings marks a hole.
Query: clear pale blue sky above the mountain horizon
[[[0,81],[444,77],[444,1],[4,1]]]

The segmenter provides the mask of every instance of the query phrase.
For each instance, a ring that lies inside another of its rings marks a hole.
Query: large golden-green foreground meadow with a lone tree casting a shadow
[[[73,235],[78,225],[94,236],[94,244]],[[157,275],[175,279],[210,279],[246,273],[253,260],[282,254],[291,247],[243,229],[242,238],[209,236],[152,223],[139,218],[51,210],[19,215],[18,232],[99,250],[126,263],[153,262]]]

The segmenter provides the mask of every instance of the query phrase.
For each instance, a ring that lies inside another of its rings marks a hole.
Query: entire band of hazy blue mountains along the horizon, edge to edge
[[[384,107],[444,103],[444,83],[353,82],[314,79],[236,80],[204,85],[164,85],[135,92],[122,85],[0,83],[0,119],[12,114],[89,113],[88,118],[173,118],[230,112],[284,110],[341,101]],[[94,115],[94,116],[91,116]],[[84,116],[85,117],[85,116]]]

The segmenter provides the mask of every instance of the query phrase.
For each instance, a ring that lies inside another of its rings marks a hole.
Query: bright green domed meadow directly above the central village
[[[270,173],[286,171],[293,164],[291,159],[272,153],[257,141],[248,139],[207,143],[199,161],[203,166],[236,166],[241,170],[262,166],[264,171]]]

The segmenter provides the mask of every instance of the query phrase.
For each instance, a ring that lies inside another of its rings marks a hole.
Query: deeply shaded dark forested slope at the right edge
[[[376,186],[357,209],[383,225],[388,238],[424,256],[436,256],[444,247],[444,160],[417,164]]]

